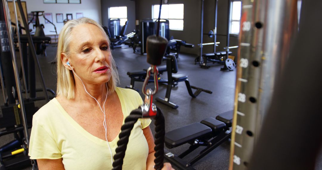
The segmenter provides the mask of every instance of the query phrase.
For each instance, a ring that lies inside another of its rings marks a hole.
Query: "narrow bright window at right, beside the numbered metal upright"
[[[231,34],[239,34],[242,13],[242,1],[233,1],[231,11]]]

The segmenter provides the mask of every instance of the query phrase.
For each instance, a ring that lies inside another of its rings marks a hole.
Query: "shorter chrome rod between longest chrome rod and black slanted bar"
[[[16,10],[16,1],[13,0],[13,7],[14,7],[14,14],[17,14],[17,10]],[[19,24],[18,24],[18,18],[17,15],[14,15],[14,19],[16,21],[16,30],[17,30],[17,40],[18,40],[18,47],[19,47],[19,54],[20,54],[20,62],[21,62],[21,70],[22,70],[22,78],[24,80],[24,90],[26,93],[26,99],[28,99],[28,89],[27,89],[27,83],[26,83],[26,76],[25,76],[25,72],[24,72],[24,56],[22,55],[22,48],[21,48],[21,42],[20,42],[20,33],[19,33]],[[28,30],[26,30],[28,31]],[[26,57],[26,56],[25,56]]]

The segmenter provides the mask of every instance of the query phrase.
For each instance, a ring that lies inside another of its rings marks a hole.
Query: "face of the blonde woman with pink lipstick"
[[[68,60],[84,83],[101,84],[109,81],[112,56],[103,31],[94,24],[80,24],[71,31],[69,45]]]

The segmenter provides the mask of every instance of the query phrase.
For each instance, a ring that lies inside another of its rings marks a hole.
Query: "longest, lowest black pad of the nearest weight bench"
[[[211,133],[211,131],[210,127],[196,122],[167,132],[165,134],[165,144],[167,148],[177,147],[199,137],[203,137]]]

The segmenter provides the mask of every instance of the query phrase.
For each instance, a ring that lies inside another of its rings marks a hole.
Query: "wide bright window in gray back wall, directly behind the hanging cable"
[[[160,5],[152,6],[152,19],[158,19]],[[161,19],[169,20],[170,30],[183,31],[183,4],[164,4],[161,9]]]

